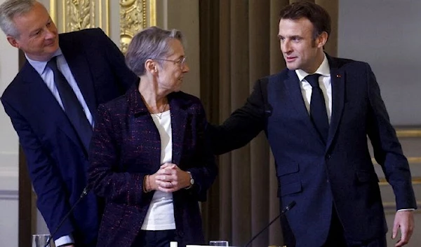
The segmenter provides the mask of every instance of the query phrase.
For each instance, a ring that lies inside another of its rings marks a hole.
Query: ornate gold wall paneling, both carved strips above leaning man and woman
[[[119,9],[116,9],[114,0],[49,1],[51,18],[60,33],[100,27],[110,36],[111,15],[118,13],[119,43],[123,52],[138,31],[156,25],[156,0],[119,0]]]

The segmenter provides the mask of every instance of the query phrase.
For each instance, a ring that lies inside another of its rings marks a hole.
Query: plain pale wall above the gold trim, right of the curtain
[[[340,0],[338,55],[368,62],[394,125],[421,125],[421,1]]]

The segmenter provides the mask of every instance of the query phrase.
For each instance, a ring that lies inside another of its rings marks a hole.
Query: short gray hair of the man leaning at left
[[[0,28],[4,34],[18,38],[20,34],[13,22],[13,18],[28,13],[36,3],[39,3],[39,1],[7,0],[2,3],[0,5]]]

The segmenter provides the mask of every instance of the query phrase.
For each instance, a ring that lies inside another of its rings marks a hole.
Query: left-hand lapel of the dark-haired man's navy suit
[[[316,139],[318,139],[323,145],[325,145],[325,143],[319,136],[319,133],[317,132],[316,128],[314,127],[312,120],[310,120],[309,113],[307,111],[307,108],[305,107],[304,99],[302,99],[300,81],[298,80],[297,73],[295,73],[295,71],[289,70],[288,78],[286,78],[286,80],[284,80],[283,83],[286,87],[286,90],[288,91],[291,101],[293,102],[295,110],[298,112],[300,119],[303,120],[309,132],[311,132],[311,134],[313,134],[316,137]]]

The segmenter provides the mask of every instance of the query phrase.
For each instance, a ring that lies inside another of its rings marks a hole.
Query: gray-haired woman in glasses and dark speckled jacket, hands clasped
[[[98,246],[203,244],[198,202],[218,171],[201,101],[180,91],[182,34],[140,31],[126,64],[140,81],[98,108],[91,142],[88,182],[106,199]]]

